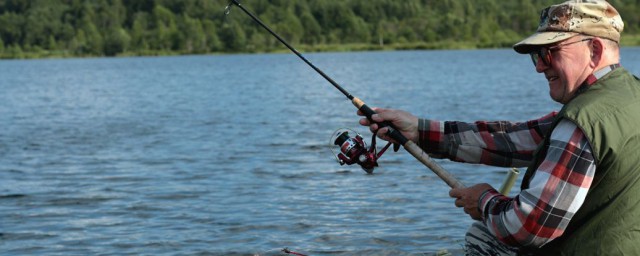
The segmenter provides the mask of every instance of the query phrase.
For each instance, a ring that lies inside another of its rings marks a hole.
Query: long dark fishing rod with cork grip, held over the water
[[[361,99],[351,95],[349,92],[347,92],[347,90],[345,90],[344,88],[342,88],[342,86],[340,86],[338,83],[336,83],[336,81],[331,79],[331,77],[329,77],[322,70],[320,70],[318,67],[313,65],[313,63],[311,63],[309,60],[307,60],[307,58],[302,56],[302,54],[300,54],[300,52],[298,52],[295,48],[293,48],[293,46],[291,46],[289,43],[287,43],[287,41],[282,39],[282,37],[280,37],[276,32],[271,30],[271,28],[269,28],[267,25],[265,25],[260,19],[258,19],[258,17],[253,15],[246,8],[244,8],[244,6],[242,6],[242,4],[240,4],[240,2],[238,2],[237,0],[230,0],[229,4],[225,8],[225,15],[229,14],[232,5],[238,6],[238,8],[240,8],[240,10],[242,10],[244,13],[249,15],[249,17],[251,17],[251,19],[253,19],[256,23],[258,23],[261,27],[266,29],[271,35],[273,35],[276,39],[278,39],[278,41],[280,41],[287,48],[289,48],[289,50],[291,50],[291,52],[293,52],[295,55],[297,55],[302,61],[307,63],[307,65],[309,65],[311,68],[313,68],[313,70],[315,70],[324,79],[326,79],[329,83],[331,83],[336,89],[338,89],[340,92],[342,92],[342,94],[344,94],[347,97],[347,99],[349,99],[351,101],[351,103],[358,110],[360,110],[360,112],[362,112],[367,117],[367,119],[372,121],[371,120],[371,116],[376,113],[375,111],[373,111],[373,109],[371,109],[369,106],[367,106],[364,103],[364,101],[362,101]],[[400,133],[400,131],[398,131],[398,129],[391,122],[384,121],[384,122],[377,123],[377,124],[378,124],[379,128],[388,127],[389,130],[387,132],[387,135],[389,137],[391,137],[392,139],[394,139],[395,141],[400,143],[404,147],[405,150],[407,150],[411,155],[413,155],[416,159],[418,159],[418,161],[420,161],[422,164],[424,164],[429,169],[431,169],[431,171],[433,171],[438,177],[440,177],[444,182],[446,182],[447,185],[449,185],[449,187],[451,187],[451,188],[464,188],[465,187],[462,184],[462,182],[460,182],[456,177],[454,177],[451,173],[447,172],[444,168],[442,168],[435,161],[433,161],[433,159],[431,159],[424,151],[422,151],[422,149],[418,145],[416,145],[413,141],[407,139],[404,135],[402,135],[402,133]],[[375,134],[373,136],[375,138]],[[344,136],[339,136],[339,137],[345,138]],[[336,144],[338,144],[337,140],[336,140]],[[357,146],[357,145],[362,146],[359,143],[352,144],[351,146]],[[371,154],[368,154],[368,155],[371,155]],[[376,154],[373,154],[373,155],[375,156]],[[379,157],[379,155],[377,155],[377,156]],[[365,157],[368,157],[367,154],[365,154]],[[373,160],[373,165],[377,166],[377,163],[375,163],[376,158],[373,158],[372,160]],[[369,161],[369,162],[371,162],[371,161]]]

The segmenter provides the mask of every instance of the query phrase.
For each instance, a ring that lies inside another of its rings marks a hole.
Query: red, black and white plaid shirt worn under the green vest
[[[524,167],[547,134],[556,113],[524,123],[439,122],[421,119],[419,145],[436,158],[493,166]],[[479,200],[483,220],[500,241],[540,247],[562,235],[585,200],[595,174],[587,138],[562,120],[530,187],[511,198],[496,190]]]

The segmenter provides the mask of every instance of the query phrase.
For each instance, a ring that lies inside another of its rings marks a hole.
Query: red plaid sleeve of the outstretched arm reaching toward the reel
[[[420,119],[418,145],[435,158],[493,166],[523,167],[551,128],[556,113],[513,123],[440,122]]]

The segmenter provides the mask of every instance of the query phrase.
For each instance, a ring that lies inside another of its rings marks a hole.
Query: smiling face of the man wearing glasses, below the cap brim
[[[591,73],[589,38],[579,36],[542,47],[532,54],[538,73],[549,81],[549,95],[559,103],[569,102]],[[539,53],[539,54],[538,54]]]

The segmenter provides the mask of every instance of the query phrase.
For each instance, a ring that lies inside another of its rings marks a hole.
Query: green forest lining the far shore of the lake
[[[532,33],[532,0],[245,0],[305,51],[498,48]],[[612,0],[638,45],[640,0]],[[0,0],[0,58],[256,53],[283,46],[227,0]],[[626,40],[625,40],[626,39]]]

